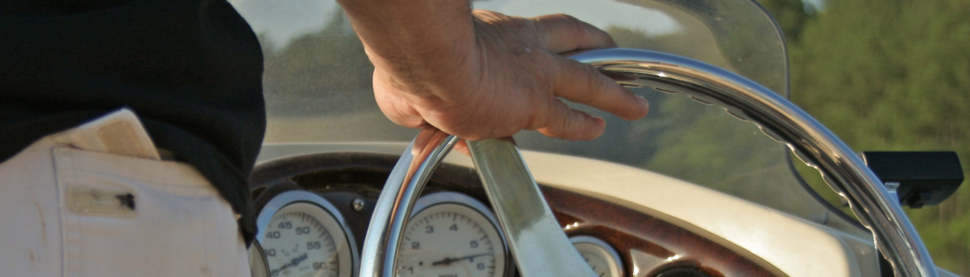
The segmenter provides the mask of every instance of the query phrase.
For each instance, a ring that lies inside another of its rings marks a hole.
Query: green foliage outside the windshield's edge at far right
[[[795,104],[856,151],[953,150],[970,176],[970,1],[759,2],[785,33]],[[970,276],[966,182],[908,213],[937,266]]]

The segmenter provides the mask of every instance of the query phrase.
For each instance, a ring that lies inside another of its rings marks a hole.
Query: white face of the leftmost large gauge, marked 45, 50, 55
[[[346,236],[336,219],[319,206],[307,202],[288,204],[276,211],[263,228],[261,244],[270,276],[350,275]]]

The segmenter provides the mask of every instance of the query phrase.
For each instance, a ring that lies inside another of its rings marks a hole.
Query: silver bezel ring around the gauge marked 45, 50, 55
[[[320,210],[322,210],[326,214],[329,214],[332,217],[332,219],[339,226],[339,231],[343,232],[343,237],[338,238],[338,237],[333,237],[334,236],[333,231],[331,231],[334,241],[335,242],[339,241],[340,243],[346,244],[347,249],[350,250],[350,254],[349,254],[350,270],[343,271],[343,269],[341,268],[339,270],[338,277],[357,276],[358,270],[360,267],[360,256],[357,253],[357,244],[356,244],[356,240],[354,239],[353,232],[350,231],[350,228],[347,226],[346,221],[344,221],[343,215],[340,214],[339,209],[337,209],[337,206],[335,206],[329,200],[326,200],[323,197],[320,197],[312,192],[288,191],[288,192],[284,192],[279,195],[276,195],[275,197],[273,197],[273,199],[266,202],[266,205],[263,206],[263,209],[259,211],[259,216],[256,217],[256,226],[259,228],[259,230],[256,232],[256,241],[258,241],[260,244],[264,244],[263,240],[265,239],[265,236],[266,236],[265,232],[267,228],[269,228],[270,221],[273,219],[276,213],[279,212],[281,209],[286,208],[287,206],[295,203],[306,203],[306,204],[313,205],[314,207],[319,208]],[[323,220],[323,219],[317,219],[317,220]],[[327,225],[327,223],[324,223],[324,222],[321,222],[321,224]],[[339,255],[339,249],[340,249],[339,244],[337,245],[337,248],[338,248],[337,255]],[[264,256],[263,258],[265,259],[266,257]],[[344,274],[343,272],[348,272],[348,273]]]

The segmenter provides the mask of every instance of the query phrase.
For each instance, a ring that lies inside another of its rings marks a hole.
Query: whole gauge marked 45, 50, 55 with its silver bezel
[[[329,201],[306,191],[282,193],[256,220],[272,277],[350,277],[356,249],[343,219]]]

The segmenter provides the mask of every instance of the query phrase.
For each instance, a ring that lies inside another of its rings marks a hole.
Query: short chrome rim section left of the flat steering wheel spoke
[[[404,150],[374,205],[361,252],[361,277],[394,276],[398,247],[414,201],[458,140],[429,128]]]

